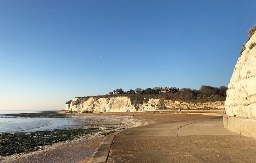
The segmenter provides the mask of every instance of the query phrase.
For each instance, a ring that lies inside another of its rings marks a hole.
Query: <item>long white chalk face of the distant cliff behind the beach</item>
[[[74,98],[66,110],[78,112],[144,112],[156,109],[224,109],[224,101],[184,102],[179,100],[149,99],[136,102],[129,97]]]

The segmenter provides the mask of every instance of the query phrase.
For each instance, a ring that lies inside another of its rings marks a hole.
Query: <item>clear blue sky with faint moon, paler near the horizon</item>
[[[0,110],[136,87],[228,86],[251,0],[1,0]]]

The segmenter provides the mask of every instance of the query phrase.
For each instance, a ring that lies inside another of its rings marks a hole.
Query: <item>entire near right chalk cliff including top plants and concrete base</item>
[[[228,85],[223,124],[235,133],[256,138],[256,25],[249,30],[240,53]]]

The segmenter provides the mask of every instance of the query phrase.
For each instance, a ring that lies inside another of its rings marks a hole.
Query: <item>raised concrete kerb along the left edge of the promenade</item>
[[[100,143],[100,146],[96,149],[88,163],[105,163],[107,161],[108,154],[112,146],[113,140],[115,139],[115,136],[122,131],[123,130],[117,131],[105,137],[105,139]]]

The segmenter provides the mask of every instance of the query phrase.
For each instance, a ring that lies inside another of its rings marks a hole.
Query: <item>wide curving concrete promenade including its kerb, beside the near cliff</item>
[[[222,118],[157,123],[108,136],[89,162],[255,163],[256,139],[225,129]]]

